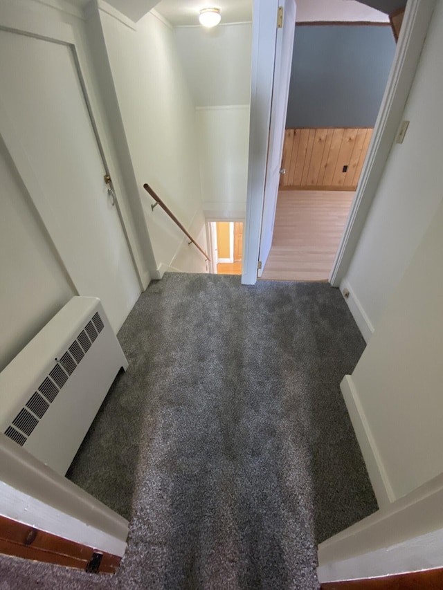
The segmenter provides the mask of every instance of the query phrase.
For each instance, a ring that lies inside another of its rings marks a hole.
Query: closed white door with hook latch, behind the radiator
[[[0,133],[80,295],[120,328],[140,288],[73,49],[0,30]]]

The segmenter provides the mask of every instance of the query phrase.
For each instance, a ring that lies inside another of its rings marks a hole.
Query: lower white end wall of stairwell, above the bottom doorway
[[[248,187],[249,106],[197,108],[206,216],[243,218]]]

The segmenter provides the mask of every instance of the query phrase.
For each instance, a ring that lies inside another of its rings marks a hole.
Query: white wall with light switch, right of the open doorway
[[[443,3],[439,1],[424,44],[404,119],[402,145],[394,144],[354,257],[342,282],[350,307],[369,335],[406,270],[442,200]],[[362,319],[363,318],[363,319]],[[366,329],[365,329],[366,327]]]

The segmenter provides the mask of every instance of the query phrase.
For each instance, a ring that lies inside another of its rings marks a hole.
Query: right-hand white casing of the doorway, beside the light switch
[[[388,84],[372,133],[345,231],[329,282],[337,287],[349,268],[366,216],[377,193],[413,84],[415,71],[437,0],[408,0]]]

